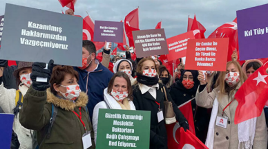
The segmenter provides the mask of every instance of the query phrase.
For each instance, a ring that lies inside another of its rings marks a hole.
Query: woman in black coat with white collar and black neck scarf
[[[150,148],[166,149],[167,135],[165,122],[168,119],[164,120],[161,118],[166,113],[164,107],[164,101],[166,101],[165,94],[169,102],[172,103],[175,119],[180,126],[186,131],[186,129],[189,129],[189,125],[178,106],[173,102],[169,92],[164,93],[166,87],[158,83],[157,71],[158,69],[153,58],[142,58],[140,60],[137,64],[138,83],[133,86],[133,102],[137,110],[151,111]],[[158,117],[157,115],[162,116]]]

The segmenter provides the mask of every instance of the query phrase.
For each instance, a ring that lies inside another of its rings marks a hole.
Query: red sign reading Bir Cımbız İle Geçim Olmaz
[[[185,69],[226,71],[229,38],[191,39]]]

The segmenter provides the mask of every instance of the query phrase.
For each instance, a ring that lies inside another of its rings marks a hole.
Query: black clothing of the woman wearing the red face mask
[[[193,87],[192,89],[186,89],[180,80],[178,80],[175,82],[175,84],[173,84],[173,87],[171,87],[171,91],[169,93],[171,94],[171,98],[175,104],[180,106],[192,98],[195,98],[196,91],[196,87]],[[195,124],[195,135],[202,142],[205,142],[207,128],[209,126],[209,114],[207,113],[207,108],[197,106],[195,104],[195,99],[191,101],[191,106],[193,111],[193,121]]]

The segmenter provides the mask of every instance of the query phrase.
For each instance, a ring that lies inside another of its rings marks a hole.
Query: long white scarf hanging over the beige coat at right
[[[211,112],[211,117],[209,121],[209,130],[207,132],[206,146],[213,149],[214,142],[214,129],[219,108],[219,102],[216,98],[213,102],[213,108]],[[256,130],[256,117],[249,119],[245,122],[238,124],[238,149],[252,149],[253,140],[255,137]]]

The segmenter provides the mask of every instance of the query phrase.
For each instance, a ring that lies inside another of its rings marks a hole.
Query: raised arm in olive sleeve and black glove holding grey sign
[[[51,115],[51,106],[45,106],[47,100],[46,89],[50,87],[49,82],[37,82],[37,77],[48,78],[50,80],[50,67],[52,61],[48,64],[35,62],[32,65],[32,86],[28,89],[23,99],[23,107],[19,115],[19,122],[28,129],[41,130],[49,123]]]

